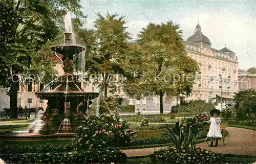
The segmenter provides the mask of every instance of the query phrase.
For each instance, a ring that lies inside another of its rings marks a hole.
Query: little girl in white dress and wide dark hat
[[[208,121],[210,122],[210,129],[207,134],[207,137],[211,138],[210,147],[218,147],[218,138],[222,138],[220,128],[221,119],[217,118],[217,116],[219,116],[220,113],[221,112],[218,109],[212,109],[210,111],[210,115],[213,116],[212,118],[210,118],[210,121]],[[213,145],[214,139],[216,140],[215,146]]]

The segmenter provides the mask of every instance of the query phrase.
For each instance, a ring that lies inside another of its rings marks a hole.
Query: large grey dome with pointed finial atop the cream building
[[[203,35],[203,32],[201,31],[201,26],[199,24],[196,26],[195,34],[188,37],[187,41],[193,43],[203,42],[206,44],[211,44],[210,39],[207,36]]]

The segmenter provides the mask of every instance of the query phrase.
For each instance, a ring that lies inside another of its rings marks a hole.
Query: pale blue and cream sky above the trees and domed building
[[[226,48],[236,53],[240,69],[256,67],[256,0],[81,0],[88,16],[86,28],[92,29],[96,13],[125,16],[127,32],[137,34],[150,22],[173,21],[186,40],[196,25],[211,41],[211,48]]]

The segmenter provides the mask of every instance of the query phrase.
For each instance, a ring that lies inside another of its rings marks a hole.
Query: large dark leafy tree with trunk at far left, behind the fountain
[[[1,36],[6,36],[1,38],[4,42],[1,42],[0,62],[4,73],[0,74],[0,85],[8,88],[12,117],[17,118],[18,76],[27,73],[38,77],[42,69],[46,75],[52,73],[52,67],[44,61],[45,54],[40,52],[42,45],[58,34],[62,16],[67,10],[78,17],[84,16],[79,11],[79,0],[3,0],[0,6],[3,9],[0,31]]]

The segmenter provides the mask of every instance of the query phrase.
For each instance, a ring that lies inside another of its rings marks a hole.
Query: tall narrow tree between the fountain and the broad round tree
[[[104,92],[104,97],[108,96],[108,91],[116,91],[116,74],[123,74],[120,66],[122,58],[127,51],[127,40],[131,39],[130,34],[125,31],[126,27],[124,16],[116,13],[111,15],[107,13],[103,17],[100,13],[94,22],[96,27],[95,47],[91,48],[88,58],[89,75],[94,75],[93,84],[99,84],[98,87]]]

